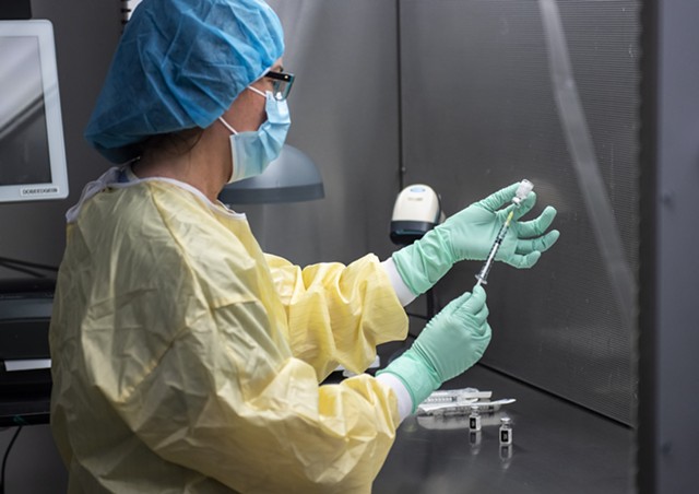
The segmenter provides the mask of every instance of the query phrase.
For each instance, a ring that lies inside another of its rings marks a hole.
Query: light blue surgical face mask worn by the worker
[[[238,132],[223,118],[218,120],[230,130],[230,153],[233,156],[233,174],[228,184],[244,178],[260,175],[282,151],[286,133],[292,125],[286,101],[280,101],[271,92],[262,93],[256,87],[248,87],[263,96],[266,102],[266,121],[258,130]]]

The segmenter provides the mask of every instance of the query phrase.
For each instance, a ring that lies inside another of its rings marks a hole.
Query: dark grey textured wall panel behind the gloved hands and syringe
[[[405,180],[431,185],[447,213],[521,178],[536,185],[535,211],[557,208],[561,238],[532,270],[494,267],[487,287],[494,338],[483,362],[631,423],[636,328],[626,316],[636,313],[638,269],[639,1],[554,3],[594,145],[592,165],[632,277],[626,309],[561,126],[544,3],[401,2]],[[478,269],[459,264],[438,285],[441,299],[471,290]]]

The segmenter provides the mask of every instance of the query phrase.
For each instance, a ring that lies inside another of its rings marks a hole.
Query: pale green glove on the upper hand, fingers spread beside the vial
[[[514,210],[512,222],[495,259],[516,268],[534,266],[558,239],[557,230],[545,233],[556,217],[556,210],[549,205],[535,220],[520,222],[534,207],[536,195],[530,192],[518,208],[510,203],[518,187],[519,183],[512,184],[471,204],[419,240],[393,252],[395,268],[407,287],[419,295],[447,274],[454,262],[485,260],[510,210]],[[506,204],[509,205],[502,208]]]

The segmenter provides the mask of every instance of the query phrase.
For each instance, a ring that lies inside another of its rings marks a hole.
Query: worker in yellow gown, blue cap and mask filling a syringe
[[[263,254],[216,197],[284,142],[282,39],[258,0],[145,0],[127,25],[86,138],[129,164],[67,214],[50,328],[71,493],[370,492],[401,420],[488,344],[478,287],[378,377],[319,385],[366,369],[406,337],[403,304],[485,258],[517,185],[384,262]],[[554,215],[512,223],[499,259],[534,264]]]

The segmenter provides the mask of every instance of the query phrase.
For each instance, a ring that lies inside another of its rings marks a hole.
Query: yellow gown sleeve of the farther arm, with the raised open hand
[[[376,358],[378,344],[405,339],[407,317],[376,256],[304,269],[265,257],[286,311],[292,352],[319,380],[339,364],[359,374]]]

